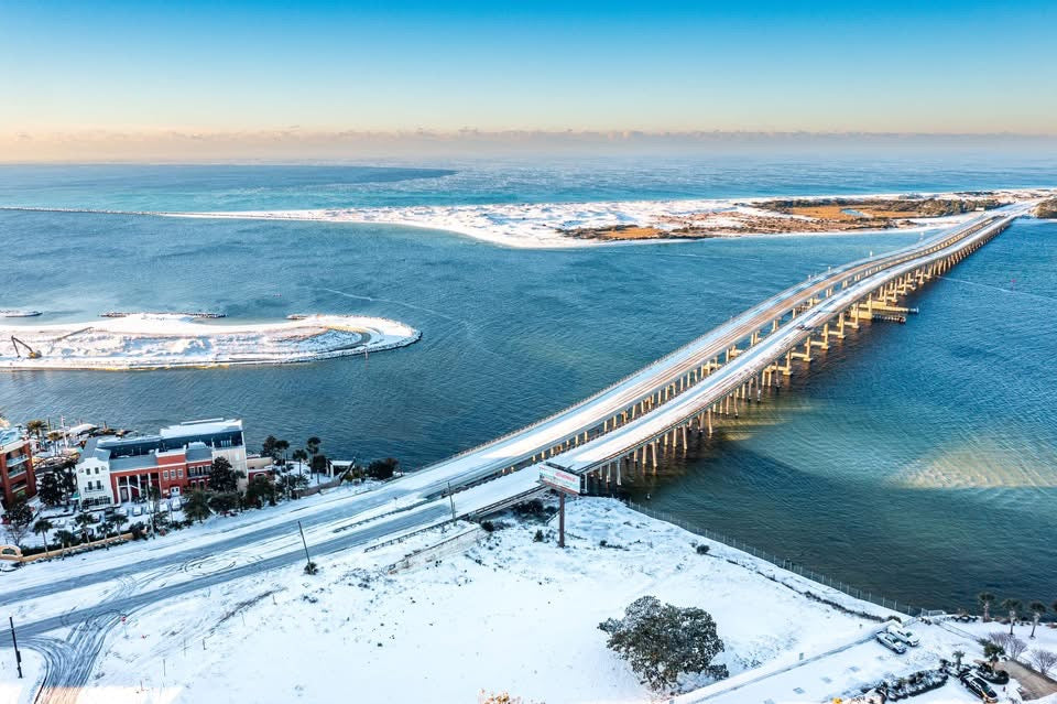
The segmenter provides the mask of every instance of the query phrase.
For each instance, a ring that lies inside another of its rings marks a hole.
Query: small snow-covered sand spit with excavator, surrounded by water
[[[392,349],[421,333],[380,317],[312,315],[264,324],[204,322],[139,313],[85,323],[0,326],[25,349],[0,348],[0,369],[156,369],[179,366],[286,364]]]

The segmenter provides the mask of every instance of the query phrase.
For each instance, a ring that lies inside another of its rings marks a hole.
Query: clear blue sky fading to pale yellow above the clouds
[[[1055,26],[1053,0],[0,0],[0,136],[1053,134]]]

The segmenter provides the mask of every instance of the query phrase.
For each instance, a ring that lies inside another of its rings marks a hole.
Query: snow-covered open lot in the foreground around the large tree
[[[458,523],[322,557],[315,577],[299,566],[277,570],[133,613],[108,638],[79,701],[455,703],[483,690],[549,704],[649,702],[651,692],[598,629],[645,594],[706,609],[727,643],[719,661],[732,678],[687,702],[828,701],[935,667],[959,647],[979,657],[966,635],[925,625],[914,627],[920,648],[891,653],[870,639],[876,621],[804,593],[886,614],[879,607],[613,500],[569,503],[565,551],[555,545],[553,520],[500,520],[509,526],[490,535]],[[534,541],[537,529],[544,542]],[[410,567],[389,568],[443,541],[451,542]],[[709,553],[698,554],[695,543]],[[105,596],[79,592],[53,600],[68,609]],[[26,661],[29,681],[40,667]],[[19,692],[9,670],[0,669],[0,696]],[[958,684],[937,694],[927,701],[972,701]]]

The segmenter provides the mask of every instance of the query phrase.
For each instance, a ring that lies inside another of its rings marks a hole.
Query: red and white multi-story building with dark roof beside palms
[[[92,437],[77,463],[80,503],[90,507],[134,501],[146,498],[150,487],[162,497],[206,488],[217,457],[246,473],[242,421],[210,419],[170,425],[157,435]]]

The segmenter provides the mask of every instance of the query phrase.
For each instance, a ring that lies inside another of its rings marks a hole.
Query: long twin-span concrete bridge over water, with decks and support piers
[[[595,396],[527,427],[406,477],[442,496],[542,463],[620,481],[657,466],[658,451],[711,434],[719,416],[809,365],[860,322],[900,315],[902,297],[957,264],[1026,214],[1014,205],[900,250],[830,269],[792,286]],[[535,475],[533,469],[531,474]]]

